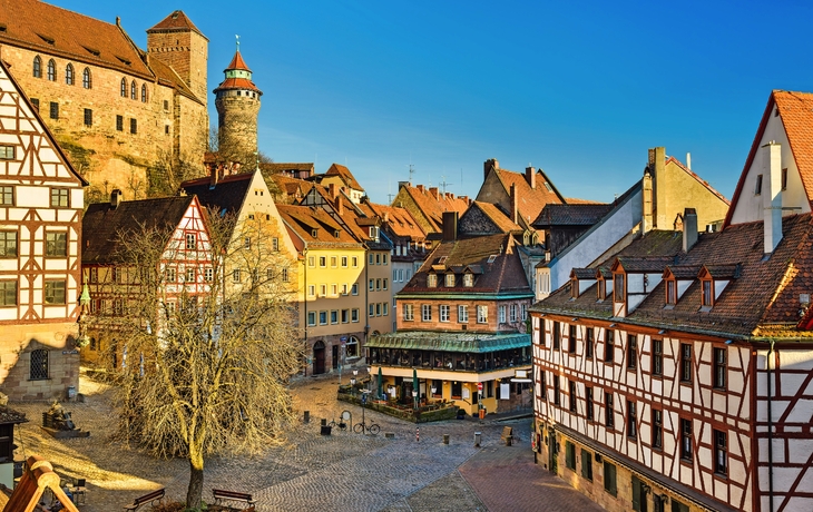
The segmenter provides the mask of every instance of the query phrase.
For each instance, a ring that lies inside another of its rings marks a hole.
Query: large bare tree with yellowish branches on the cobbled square
[[[126,339],[108,358],[120,362],[119,434],[156,456],[187,459],[186,506],[194,509],[208,456],[257,453],[284,441],[294,420],[287,380],[301,361],[292,279],[282,272],[284,256],[271,250],[266,226],[207,217],[207,255],[198,259],[209,270],[195,287],[167,279],[165,263],[183,245],[173,229],[119,234],[131,284],[123,292],[125,312],[101,315],[96,325]],[[204,294],[196,293],[200,283]]]

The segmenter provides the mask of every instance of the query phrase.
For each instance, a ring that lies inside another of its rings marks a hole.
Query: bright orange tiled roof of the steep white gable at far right
[[[791,145],[791,152],[796,161],[807,200],[813,199],[813,93],[774,90],[767,99],[760,127],[751,145],[751,151],[748,151],[748,158],[745,160],[743,173],[739,175],[739,181],[737,181],[737,188],[734,190],[734,197],[732,198],[734,205],[739,200],[739,194],[745,186],[745,177],[754,163],[754,158],[756,158],[756,151],[760,149],[762,137],[774,107],[776,107],[785,128],[785,135]],[[734,208],[728,208],[724,227],[731,224],[733,215]]]

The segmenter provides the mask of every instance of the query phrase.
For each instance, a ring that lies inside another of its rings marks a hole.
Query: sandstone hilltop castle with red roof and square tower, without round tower
[[[184,12],[148,29],[146,50],[119,19],[39,0],[0,0],[0,59],[90,183],[89,201],[114,188],[133,199],[172,193],[198,174],[209,132],[208,39]]]

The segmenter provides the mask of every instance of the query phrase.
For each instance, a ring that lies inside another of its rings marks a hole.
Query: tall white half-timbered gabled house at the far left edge
[[[0,391],[12,400],[78,388],[85,186],[0,62]]]

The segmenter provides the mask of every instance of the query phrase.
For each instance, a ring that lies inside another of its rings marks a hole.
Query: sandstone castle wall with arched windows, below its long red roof
[[[97,198],[96,193],[106,196],[112,188],[127,191],[128,199],[145,197],[147,168],[161,156],[180,151],[193,163],[203,161],[208,139],[206,107],[176,95],[173,87],[156,83],[151,77],[125,75],[8,45],[0,47],[0,55],[11,63],[10,72],[26,95],[39,101],[40,116],[71,164],[90,181],[89,199]],[[33,59],[38,55],[42,59],[42,78],[33,77]],[[50,59],[56,62],[56,81],[47,78]],[[69,62],[75,70],[74,85],[65,80]],[[91,73],[89,89],[82,86],[85,68]],[[127,97],[121,96],[123,78]],[[134,81],[136,99],[130,97]],[[141,101],[143,85],[147,89],[146,101]],[[50,117],[51,102],[58,105],[57,119]],[[91,111],[90,126],[86,125],[86,109]]]

